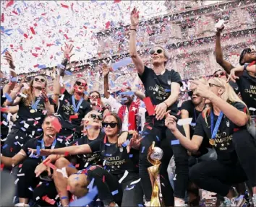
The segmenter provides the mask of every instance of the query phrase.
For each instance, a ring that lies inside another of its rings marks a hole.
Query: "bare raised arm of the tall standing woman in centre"
[[[144,63],[136,50],[136,28],[137,25],[139,25],[139,11],[137,11],[137,9],[132,10],[130,19],[129,56],[131,56],[133,63],[135,63],[135,68],[137,69],[138,74],[142,75],[144,72]]]

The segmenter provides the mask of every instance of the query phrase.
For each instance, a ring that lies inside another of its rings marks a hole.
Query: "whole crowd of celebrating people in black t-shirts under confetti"
[[[199,206],[203,189],[216,193],[217,205],[256,207],[255,50],[242,50],[241,66],[232,66],[223,59],[218,27],[216,61],[224,71],[191,79],[190,100],[178,108],[182,79],[166,69],[166,49],[150,48],[152,68],[137,53],[138,13],[133,9],[130,18],[129,55],[144,93],[125,87],[112,96],[105,64],[104,96],[86,96],[82,78],[68,92],[63,77],[73,46],[66,45],[48,97],[47,77],[18,82],[5,53],[10,79],[1,86],[1,167],[16,177],[9,183],[17,189],[15,206],[150,206],[147,156],[154,143],[163,150],[164,206]]]

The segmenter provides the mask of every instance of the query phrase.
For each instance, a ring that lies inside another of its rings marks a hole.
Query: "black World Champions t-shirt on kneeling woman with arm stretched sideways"
[[[129,136],[131,138],[131,136]],[[104,143],[104,141],[106,143]],[[127,148],[122,150],[117,144],[108,142],[108,138],[98,139],[89,144],[90,149],[101,152],[101,162],[113,175],[120,175],[127,170],[128,172],[139,172],[139,151],[131,149],[129,154]]]

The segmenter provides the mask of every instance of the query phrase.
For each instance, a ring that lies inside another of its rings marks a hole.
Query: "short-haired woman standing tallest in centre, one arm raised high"
[[[161,192],[163,194],[163,203],[166,206],[184,206],[184,197],[188,182],[188,154],[180,144],[176,144],[176,138],[171,131],[166,129],[164,118],[166,112],[179,117],[178,98],[179,89],[182,85],[182,79],[179,73],[174,70],[167,70],[166,63],[168,54],[166,50],[155,45],[150,49],[150,58],[152,60],[153,69],[145,66],[142,59],[136,50],[136,29],[139,24],[138,11],[133,9],[131,14],[129,54],[135,63],[135,68],[145,87],[146,98],[150,98],[145,102],[148,113],[146,113],[146,123],[143,130],[143,136],[140,146],[140,177],[142,188],[145,194],[146,206],[150,205],[152,186],[148,175],[148,167],[150,163],[147,160],[147,152],[150,145],[155,141],[156,146],[163,149],[163,159],[161,163]],[[150,107],[150,102],[152,105]],[[184,133],[182,126],[179,126],[180,131]],[[166,138],[168,137],[168,139]],[[168,163],[174,155],[176,163],[176,179],[174,180],[174,197],[170,196],[173,192],[170,182],[168,182]]]

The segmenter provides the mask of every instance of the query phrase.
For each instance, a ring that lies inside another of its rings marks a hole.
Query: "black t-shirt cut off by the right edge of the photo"
[[[236,79],[236,83],[239,86],[242,100],[247,107],[256,108],[256,78],[250,76],[247,71],[244,71],[242,76]],[[252,110],[250,110],[250,114],[256,115],[253,114]]]

